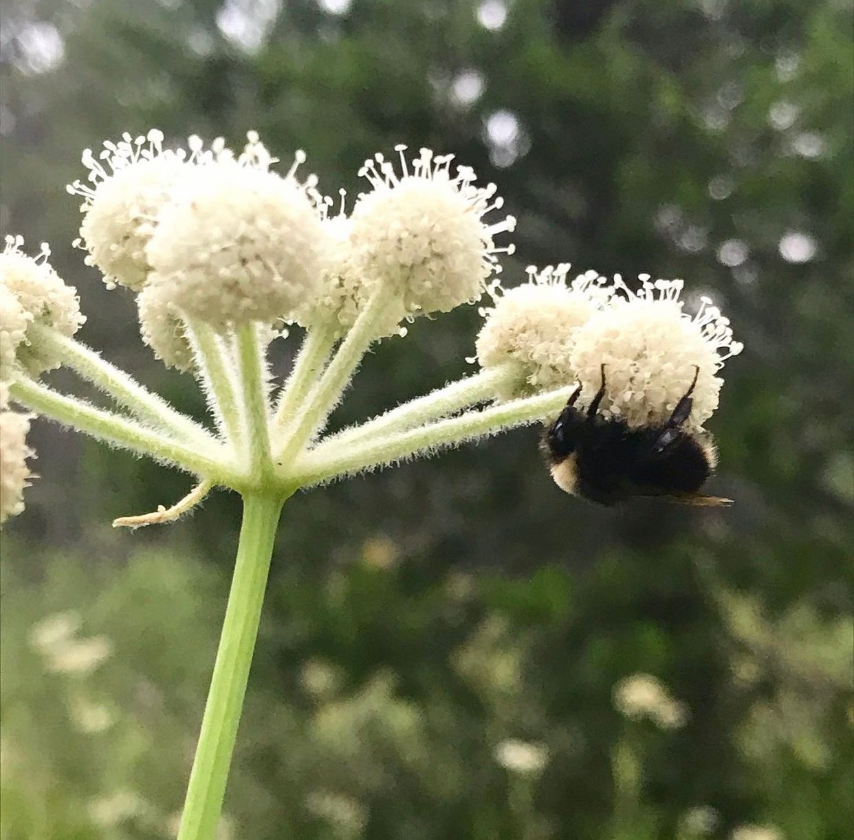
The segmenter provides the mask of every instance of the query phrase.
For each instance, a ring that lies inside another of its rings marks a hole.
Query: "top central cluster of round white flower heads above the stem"
[[[161,131],[104,143],[83,162],[78,240],[108,285],[139,293],[143,340],[165,364],[193,364],[185,324],[219,332],[248,322],[322,327],[345,335],[378,289],[387,298],[374,333],[401,331],[401,321],[447,312],[478,300],[499,270],[494,236],[511,217],[483,216],[501,206],[494,184],[474,185],[452,156],[422,149],[401,173],[376,155],[366,162],[372,190],[348,217],[329,217],[317,179],[302,183],[298,152],[284,176],[254,132],[241,155],[221,140],[210,149],[190,137],[189,152],[163,147]]]

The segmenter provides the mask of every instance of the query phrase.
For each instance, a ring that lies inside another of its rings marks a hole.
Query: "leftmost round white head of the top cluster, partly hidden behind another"
[[[163,133],[157,129],[135,139],[125,134],[119,143],[106,140],[103,145],[97,158],[91,149],[83,153],[91,184],[75,181],[67,188],[84,198],[75,244],[89,252],[86,264],[97,265],[108,287],[142,289],[151,271],[145,246],[175,184],[194,166],[224,154],[224,146],[217,140],[206,151],[198,137],[190,137],[189,155],[184,149],[163,149]]]

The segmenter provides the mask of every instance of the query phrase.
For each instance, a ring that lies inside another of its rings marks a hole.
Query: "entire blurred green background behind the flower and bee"
[[[720,302],[746,351],[712,422],[711,492],[738,504],[591,508],[553,487],[534,430],[292,499],[225,834],[848,837],[850,5],[338,5],[4,3],[0,228],[50,241],[84,340],[202,412],[188,378],[128,341],[132,300],[69,245],[62,184],[80,149],[149,125],[232,141],[256,128],[351,195],[377,150],[453,151],[499,184],[526,263],[686,277]],[[506,283],[523,267],[507,260]],[[336,423],[470,370],[477,320],[424,320],[377,347]],[[277,343],[284,372],[295,342]],[[33,443],[41,477],[3,535],[0,837],[168,837],[236,499],[116,534],[114,516],[168,504],[184,479],[46,424]],[[56,614],[74,627],[63,667],[106,658],[57,670],[34,641]],[[629,674],[661,680],[686,725],[620,715]]]

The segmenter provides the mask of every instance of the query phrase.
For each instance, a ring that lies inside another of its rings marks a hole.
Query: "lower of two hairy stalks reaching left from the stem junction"
[[[224,461],[208,458],[202,452],[197,452],[190,446],[178,440],[171,440],[152,429],[145,429],[126,417],[102,411],[65,394],[57,394],[38,382],[29,379],[16,380],[10,385],[9,393],[21,405],[26,405],[44,417],[50,417],[98,440],[136,452],[137,455],[148,455],[155,461],[173,464],[195,475],[203,475],[216,484],[233,487],[245,481],[246,476],[240,475]],[[220,445],[213,441],[210,448],[217,455],[221,452]]]

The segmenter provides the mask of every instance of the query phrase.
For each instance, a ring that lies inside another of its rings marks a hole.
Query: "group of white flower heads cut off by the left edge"
[[[61,363],[55,351],[31,341],[33,325],[73,335],[85,318],[75,290],[64,283],[47,259],[44,243],[27,256],[21,236],[7,236],[0,254],[0,525],[24,510],[22,493],[30,470],[26,446],[30,416],[9,410],[9,382],[19,373],[39,376]]]

